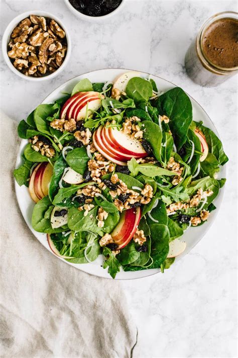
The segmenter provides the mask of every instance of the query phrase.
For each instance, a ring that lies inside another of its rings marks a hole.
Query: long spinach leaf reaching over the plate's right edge
[[[224,153],[220,139],[215,135],[215,133],[211,129],[202,125],[202,122],[197,124],[197,127],[201,129],[201,131],[205,135],[209,152],[216,157],[220,165],[224,165],[228,161],[228,157]]]

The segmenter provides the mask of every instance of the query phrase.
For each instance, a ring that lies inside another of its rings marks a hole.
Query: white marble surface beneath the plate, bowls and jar
[[[215,123],[229,157],[216,222],[165,274],[122,286],[138,327],[133,357],[235,357],[237,78],[218,88],[201,88],[186,76],[184,55],[204,20],[236,11],[236,2],[126,0],[118,16],[94,24],[74,17],[63,0],[1,0],[1,32],[28,10],[46,10],[62,19],[71,35],[72,56],[59,77],[39,84],[18,78],[1,60],[1,107],[12,118],[25,118],[49,92],[76,75],[125,67],[181,86]]]

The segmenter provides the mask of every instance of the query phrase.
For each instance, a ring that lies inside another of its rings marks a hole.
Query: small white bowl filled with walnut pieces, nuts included
[[[58,18],[45,11],[28,11],[6,28],[2,51],[16,75],[29,81],[44,81],[56,77],[67,65],[71,41]]]

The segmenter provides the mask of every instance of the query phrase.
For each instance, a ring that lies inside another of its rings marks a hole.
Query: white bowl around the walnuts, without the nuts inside
[[[42,77],[31,77],[31,76],[26,76],[24,74],[22,74],[17,68],[14,67],[13,63],[11,62],[9,56],[8,56],[8,44],[10,41],[10,36],[13,32],[13,30],[15,29],[15,27],[24,19],[28,18],[30,15],[37,15],[37,16],[44,16],[47,17],[49,19],[53,19],[55,20],[60,27],[62,27],[62,29],[65,31],[65,36],[66,36],[66,40],[67,40],[67,52],[66,52],[66,56],[65,59],[63,61],[63,63],[61,64],[61,66],[56,69],[56,71],[54,71],[52,74],[47,75],[47,76],[42,76]],[[67,29],[65,28],[65,26],[62,24],[62,22],[60,21],[60,19],[58,19],[56,16],[47,13],[46,11],[39,11],[39,10],[32,10],[32,11],[27,11],[23,14],[18,15],[16,18],[14,18],[10,24],[7,26],[4,35],[3,35],[3,40],[2,40],[2,51],[3,51],[3,56],[5,59],[5,62],[7,63],[7,65],[9,66],[9,68],[19,77],[23,78],[24,80],[28,80],[28,81],[45,81],[45,80],[51,80],[54,77],[56,77],[67,65],[69,58],[70,58],[70,54],[71,54],[71,40],[69,37],[69,33],[67,31]]]

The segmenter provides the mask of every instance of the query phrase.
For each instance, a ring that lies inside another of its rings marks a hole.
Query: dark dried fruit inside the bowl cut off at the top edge
[[[80,13],[87,16],[104,16],[114,11],[122,0],[69,0]]]

